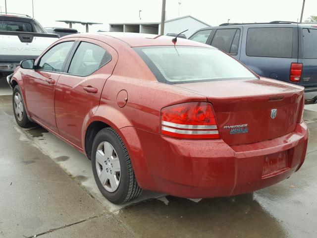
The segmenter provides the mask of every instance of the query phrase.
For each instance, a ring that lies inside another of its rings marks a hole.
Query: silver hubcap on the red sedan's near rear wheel
[[[109,142],[101,142],[96,152],[96,169],[100,182],[108,192],[114,192],[120,183],[120,161]]]

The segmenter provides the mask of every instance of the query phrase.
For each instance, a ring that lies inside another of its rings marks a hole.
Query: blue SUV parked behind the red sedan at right
[[[305,103],[317,103],[317,24],[225,23],[188,39],[230,54],[260,76],[304,86]]]

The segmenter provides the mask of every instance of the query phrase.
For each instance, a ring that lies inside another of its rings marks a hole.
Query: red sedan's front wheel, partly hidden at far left
[[[34,125],[34,123],[28,119],[26,114],[22,93],[18,85],[16,85],[13,89],[12,106],[14,118],[19,126],[29,128]]]

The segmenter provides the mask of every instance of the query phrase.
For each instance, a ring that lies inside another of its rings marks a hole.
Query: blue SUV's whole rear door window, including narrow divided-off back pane
[[[214,46],[230,55],[238,54],[240,29],[218,29],[214,34],[211,46]]]

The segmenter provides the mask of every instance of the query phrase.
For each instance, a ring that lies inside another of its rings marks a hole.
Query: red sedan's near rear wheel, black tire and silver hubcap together
[[[110,202],[128,202],[141,194],[127,149],[112,128],[97,133],[91,163],[97,186]]]

